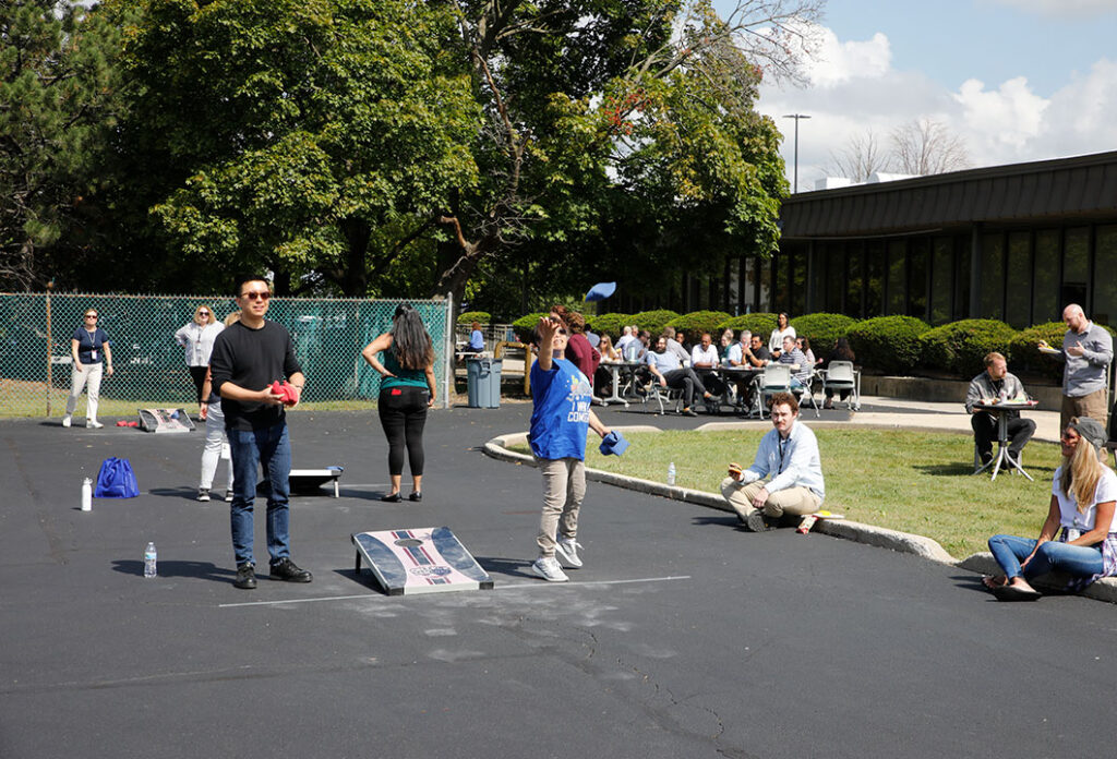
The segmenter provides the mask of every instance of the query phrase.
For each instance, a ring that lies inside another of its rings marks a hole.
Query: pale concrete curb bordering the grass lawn
[[[712,423],[705,424],[699,427],[706,430],[724,430],[731,425],[739,425],[747,423]],[[830,424],[825,424],[831,426]],[[840,426],[840,424],[834,423],[832,426]],[[866,426],[877,426],[877,425],[866,425]],[[884,425],[881,425],[884,426]],[[888,425],[891,426],[891,425]],[[633,424],[629,426],[614,426],[614,430],[621,432],[661,432],[659,427],[653,427],[648,424]],[[907,426],[905,429],[911,429]],[[941,427],[932,427],[941,429]],[[517,464],[527,464],[528,467],[535,467],[535,459],[526,453],[516,453],[515,451],[509,451],[508,445],[518,445],[527,443],[526,432],[513,432],[504,435],[498,435],[493,438],[485,443],[483,450],[486,455],[497,459],[499,461],[508,461]],[[615,486],[618,488],[627,488],[628,490],[634,490],[637,492],[648,493],[649,496],[662,496],[663,498],[670,498],[677,501],[686,501],[687,503],[697,503],[698,506],[705,506],[710,509],[717,509],[718,511],[726,511],[733,513],[733,510],[725,502],[725,499],[720,494],[709,493],[704,490],[690,490],[689,488],[678,488],[675,486],[669,486],[665,482],[655,482],[652,480],[641,480],[634,477],[626,477],[623,474],[617,474],[614,472],[607,472],[600,469],[592,469],[586,467],[585,479],[591,482],[603,482],[605,484]],[[960,569],[965,569],[966,571],[973,571],[981,575],[993,575],[1000,571],[1000,567],[996,561],[993,560],[992,554],[982,553],[974,554],[964,559],[956,559],[938,544],[937,540],[924,537],[922,535],[913,535],[910,532],[900,532],[899,530],[890,530],[884,527],[876,527],[875,525],[865,525],[862,522],[856,522],[848,519],[836,519],[836,520],[820,520],[815,523],[813,531],[821,532],[823,535],[829,535],[834,538],[842,538],[844,540],[852,540],[855,542],[862,542],[869,546],[876,546],[878,548],[888,548],[903,554],[914,554],[924,559],[930,561],[937,561],[938,564],[945,564],[948,566],[954,566]],[[1066,577],[1059,574],[1046,575],[1039,578],[1035,583],[1041,588],[1049,590],[1058,590],[1065,587],[1067,584]],[[1117,578],[1105,577],[1097,580],[1089,587],[1087,587],[1080,595],[1087,598],[1095,598],[1097,601],[1105,601],[1110,604],[1117,604]]]

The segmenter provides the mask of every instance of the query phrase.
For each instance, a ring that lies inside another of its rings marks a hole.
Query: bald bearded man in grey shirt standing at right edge
[[[1108,430],[1107,376],[1109,362],[1114,358],[1113,337],[1105,327],[1087,319],[1078,304],[1062,309],[1062,320],[1067,334],[1062,337],[1061,350],[1044,340],[1039,342],[1040,350],[1067,363],[1062,369],[1059,429],[1066,430],[1071,416],[1089,416]]]

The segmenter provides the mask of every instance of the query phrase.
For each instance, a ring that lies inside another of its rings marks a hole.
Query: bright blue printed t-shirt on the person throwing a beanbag
[[[573,363],[554,358],[551,371],[532,365],[532,427],[528,442],[540,459],[585,459],[593,391]]]

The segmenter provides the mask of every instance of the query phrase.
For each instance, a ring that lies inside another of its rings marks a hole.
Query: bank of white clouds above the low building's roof
[[[765,81],[757,109],[775,119],[791,177],[794,123],[783,114],[802,113],[799,125],[799,186],[806,190],[824,175],[831,153],[851,137],[872,129],[887,142],[897,126],[926,117],[944,124],[966,144],[975,166],[1043,161],[1117,150],[1117,61],[1101,58],[1043,98],[1024,77],[986,85],[976,78],[952,90],[919,71],[891,67],[885,35],[841,41],[821,29],[824,59],[806,66],[805,87]]]

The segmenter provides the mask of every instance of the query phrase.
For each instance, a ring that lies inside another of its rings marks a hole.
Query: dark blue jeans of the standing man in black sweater
[[[252,505],[256,501],[256,464],[264,467],[270,484],[268,493],[268,554],[273,561],[290,557],[287,500],[290,496],[290,440],[287,423],[261,430],[227,430],[232,454],[232,550],[237,565],[252,558]]]

